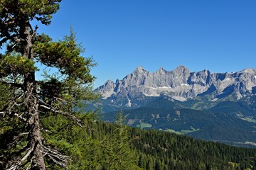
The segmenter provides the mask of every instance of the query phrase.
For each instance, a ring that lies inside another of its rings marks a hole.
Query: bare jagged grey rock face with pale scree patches
[[[234,99],[253,95],[256,92],[256,69],[243,69],[235,73],[210,73],[205,69],[190,72],[179,66],[173,71],[160,68],[148,72],[143,67],[114,83],[107,81],[95,91],[119,106],[136,108],[139,101],[149,96],[166,96],[178,101],[186,101],[196,96],[210,96],[210,100],[232,96]]]

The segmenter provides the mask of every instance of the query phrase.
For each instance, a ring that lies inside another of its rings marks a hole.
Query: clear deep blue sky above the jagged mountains
[[[138,66],[149,72],[256,67],[255,0],[63,0],[51,25],[39,30],[56,39],[70,26],[83,55],[98,63],[95,87]]]

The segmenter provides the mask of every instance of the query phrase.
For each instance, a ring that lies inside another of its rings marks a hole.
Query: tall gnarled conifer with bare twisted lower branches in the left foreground
[[[94,99],[91,57],[71,31],[54,42],[37,33],[38,21],[48,26],[61,0],[0,0],[0,169],[46,169],[46,164],[67,167],[70,158],[43,139],[41,120],[62,115],[83,126],[80,101]],[[55,68],[38,80],[36,63]],[[50,162],[50,163],[48,163]]]

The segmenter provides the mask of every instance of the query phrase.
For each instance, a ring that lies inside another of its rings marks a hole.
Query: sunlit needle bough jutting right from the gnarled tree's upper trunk
[[[80,57],[83,49],[75,42],[75,34],[71,29],[69,36],[65,36],[59,42],[36,42],[33,46],[36,59],[47,67],[58,68],[61,74],[67,75],[67,79],[80,81],[80,83],[92,82],[94,77],[90,75],[90,68],[95,66],[92,58]]]

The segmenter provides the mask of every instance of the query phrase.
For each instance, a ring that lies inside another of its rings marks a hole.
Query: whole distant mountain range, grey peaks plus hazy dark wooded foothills
[[[102,119],[114,121],[119,111],[127,125],[189,135],[230,145],[256,145],[256,69],[211,73],[179,66],[148,72],[137,67],[124,79],[107,81]]]

